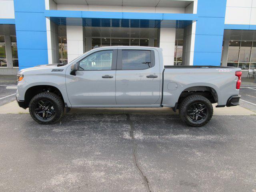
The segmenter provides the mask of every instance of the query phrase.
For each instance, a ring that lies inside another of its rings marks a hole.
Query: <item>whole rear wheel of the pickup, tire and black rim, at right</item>
[[[211,102],[201,95],[187,96],[179,106],[181,120],[192,127],[204,126],[210,121],[212,114]]]

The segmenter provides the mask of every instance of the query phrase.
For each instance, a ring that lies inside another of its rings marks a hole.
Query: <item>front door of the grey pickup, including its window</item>
[[[66,89],[73,107],[116,105],[117,49],[101,50],[78,62],[76,75],[66,70]]]

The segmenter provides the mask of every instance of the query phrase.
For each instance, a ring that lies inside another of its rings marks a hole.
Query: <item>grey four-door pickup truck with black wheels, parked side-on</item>
[[[164,66],[161,48],[101,47],[66,65],[20,70],[16,100],[40,124],[70,108],[169,107],[199,127],[212,118],[213,103],[239,105],[241,75],[240,68]]]

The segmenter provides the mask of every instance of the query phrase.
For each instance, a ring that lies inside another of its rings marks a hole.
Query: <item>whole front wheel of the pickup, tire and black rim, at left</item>
[[[34,96],[29,103],[29,113],[40,124],[52,124],[60,120],[64,112],[62,99],[51,92]]]

